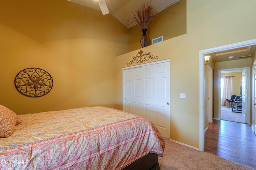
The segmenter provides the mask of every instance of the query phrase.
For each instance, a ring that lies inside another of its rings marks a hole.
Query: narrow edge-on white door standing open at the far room
[[[242,119],[244,122],[246,121],[246,113],[247,113],[247,84],[246,84],[246,70],[242,71]]]

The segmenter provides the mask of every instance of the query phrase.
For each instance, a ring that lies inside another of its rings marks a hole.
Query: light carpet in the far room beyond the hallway
[[[221,120],[245,123],[242,119],[242,113],[232,112],[232,107],[221,106]]]

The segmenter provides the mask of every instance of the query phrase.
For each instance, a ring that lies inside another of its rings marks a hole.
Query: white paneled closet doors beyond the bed
[[[170,138],[170,61],[123,69],[123,110],[146,117]]]

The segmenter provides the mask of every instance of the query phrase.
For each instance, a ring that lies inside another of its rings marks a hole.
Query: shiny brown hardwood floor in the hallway
[[[214,120],[204,140],[205,152],[256,168],[256,136],[250,125]]]

